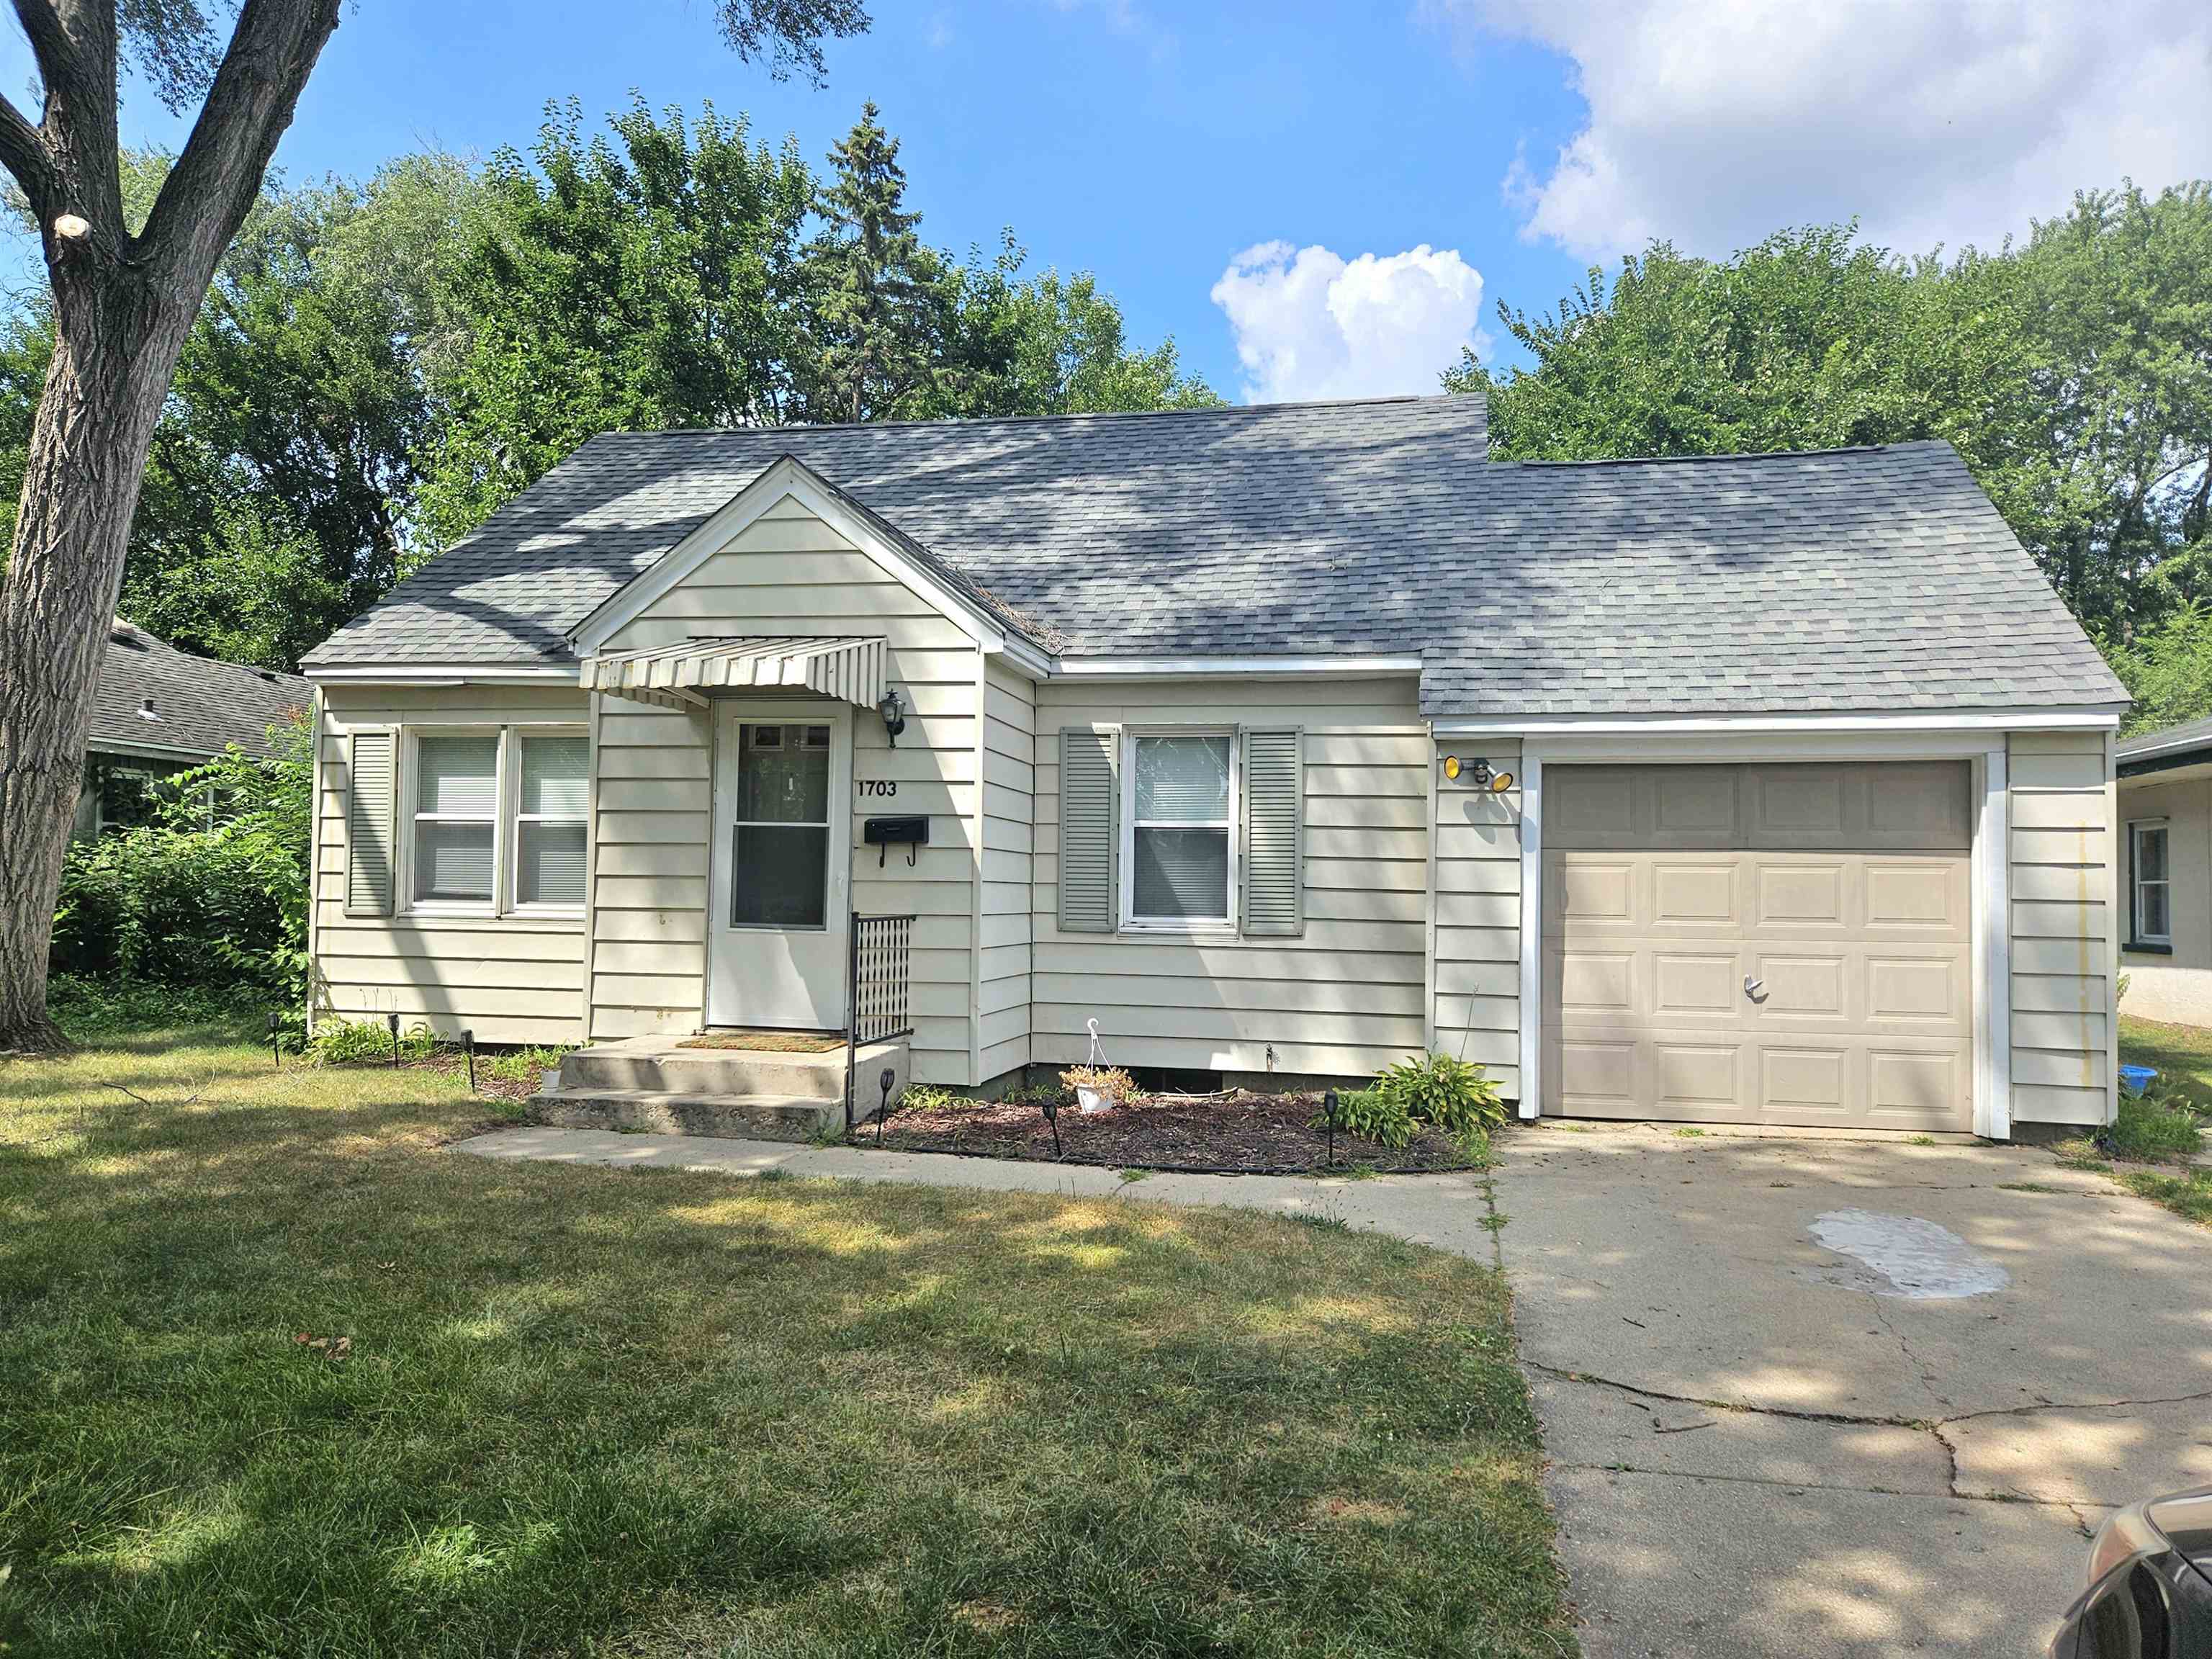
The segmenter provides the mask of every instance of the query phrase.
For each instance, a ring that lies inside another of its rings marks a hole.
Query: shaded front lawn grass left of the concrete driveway
[[[440,1150],[502,1110],[0,1064],[0,1652],[1573,1652],[1495,1272]]]

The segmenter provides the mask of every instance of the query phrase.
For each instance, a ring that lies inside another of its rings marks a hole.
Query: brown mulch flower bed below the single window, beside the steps
[[[1104,1164],[1128,1170],[1228,1170],[1239,1175],[1303,1175],[1327,1168],[1329,1137],[1307,1128],[1321,1095],[1146,1095],[1102,1113],[1060,1108],[1060,1152],[1053,1130],[1033,1102],[953,1099],[945,1106],[896,1106],[883,1126],[883,1150],[964,1152],[969,1157],[1026,1157],[1064,1164]],[[874,1126],[854,1133],[856,1146],[876,1146]],[[1436,1130],[1420,1130],[1407,1146],[1376,1146],[1336,1130],[1338,1170],[1464,1170],[1469,1157]]]

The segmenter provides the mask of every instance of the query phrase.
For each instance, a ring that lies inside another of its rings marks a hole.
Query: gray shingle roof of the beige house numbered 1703
[[[1493,465],[1480,396],[608,434],[310,666],[566,659],[783,453],[1077,655],[1420,650],[1436,717],[2126,699],[1949,445]]]

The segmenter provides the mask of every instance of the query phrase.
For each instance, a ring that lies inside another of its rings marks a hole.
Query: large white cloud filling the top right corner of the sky
[[[1584,257],[1725,254],[1858,217],[1924,252],[1993,248],[2077,188],[2212,173],[2203,0],[1427,0],[1469,49],[1573,62],[1584,128],[1515,161],[1524,234]]]

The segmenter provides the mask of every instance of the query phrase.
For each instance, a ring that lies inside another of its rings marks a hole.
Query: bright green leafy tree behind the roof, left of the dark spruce
[[[549,111],[498,153],[451,305],[460,361],[422,491],[442,546],[611,429],[774,425],[796,409],[801,228],[814,179],[785,142],[706,106],[641,102],[582,133]]]

